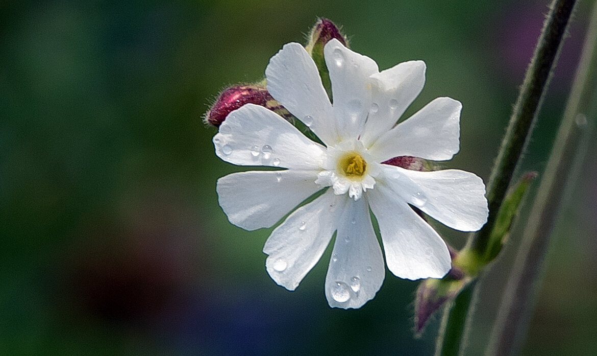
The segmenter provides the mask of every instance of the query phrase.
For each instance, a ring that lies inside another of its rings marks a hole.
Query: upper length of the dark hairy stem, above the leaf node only
[[[469,246],[478,253],[483,253],[487,247],[512,174],[524,152],[528,137],[531,136],[575,3],[576,0],[554,0],[543,24],[488,184],[490,214],[487,224],[479,232],[472,234],[469,240]]]

